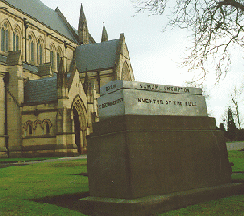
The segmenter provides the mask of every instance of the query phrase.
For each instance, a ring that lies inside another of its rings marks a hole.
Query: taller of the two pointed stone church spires
[[[83,10],[83,6],[81,4],[80,7],[80,20],[78,26],[78,36],[79,36],[79,44],[89,44],[89,32],[87,28],[87,20]]]

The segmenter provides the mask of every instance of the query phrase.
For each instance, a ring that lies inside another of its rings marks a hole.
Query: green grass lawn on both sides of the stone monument
[[[244,171],[244,151],[229,151],[233,171]],[[1,160],[0,160],[1,162]],[[0,169],[0,215],[74,215],[84,214],[54,204],[35,202],[65,194],[89,191],[86,160],[38,163]],[[244,180],[244,174],[235,179]],[[244,215],[244,195],[232,196],[160,214],[169,215]]]

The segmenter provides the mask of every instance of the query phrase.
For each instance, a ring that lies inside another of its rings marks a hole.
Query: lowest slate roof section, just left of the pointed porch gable
[[[29,80],[24,88],[25,103],[57,101],[57,76]]]

